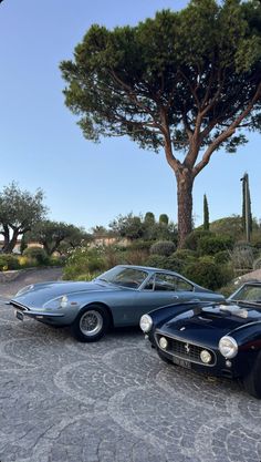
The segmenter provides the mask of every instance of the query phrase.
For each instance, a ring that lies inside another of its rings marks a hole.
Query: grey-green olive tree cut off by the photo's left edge
[[[11,253],[18,237],[28,233],[45,214],[42,189],[32,194],[20,189],[15,183],[3,187],[0,193],[0,234],[3,236],[1,250]]]

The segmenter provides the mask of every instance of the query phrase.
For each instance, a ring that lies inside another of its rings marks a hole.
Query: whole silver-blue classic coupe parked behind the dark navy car
[[[109,327],[138,326],[150,308],[184,300],[220,300],[180,275],[142,266],[116,266],[91,283],[59,281],[27,286],[10,304],[15,316],[72,326],[81,341],[98,340]]]

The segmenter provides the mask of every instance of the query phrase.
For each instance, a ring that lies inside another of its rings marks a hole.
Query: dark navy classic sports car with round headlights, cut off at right
[[[140,328],[159,357],[212,376],[240,378],[261,398],[261,283],[243,284],[226,302],[156,309]]]

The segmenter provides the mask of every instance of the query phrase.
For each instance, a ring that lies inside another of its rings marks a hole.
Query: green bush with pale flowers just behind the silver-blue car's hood
[[[76,279],[80,275],[92,275],[105,269],[106,263],[102,256],[102,249],[77,247],[71,251],[66,260],[63,279]]]

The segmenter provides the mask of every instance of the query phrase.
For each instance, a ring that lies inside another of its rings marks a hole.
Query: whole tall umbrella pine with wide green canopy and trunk
[[[61,70],[65,103],[86,138],[128,135],[143,148],[164,148],[182,244],[195,177],[213,152],[234,152],[247,129],[261,127],[260,2],[191,0],[136,27],[94,24]]]

